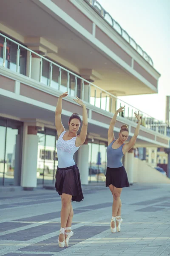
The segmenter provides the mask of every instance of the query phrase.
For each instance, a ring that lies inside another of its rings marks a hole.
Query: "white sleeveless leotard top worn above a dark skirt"
[[[65,133],[66,131],[63,131],[60,134],[56,144],[59,168],[73,166],[75,164],[73,159],[74,153],[79,149],[75,145],[77,137],[73,137],[71,140],[63,140],[62,137]]]

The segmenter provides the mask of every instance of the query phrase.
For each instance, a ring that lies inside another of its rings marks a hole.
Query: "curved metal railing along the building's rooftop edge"
[[[122,27],[119,25],[116,20],[114,20],[111,15],[105,11],[105,9],[101,6],[101,4],[96,0],[84,0],[85,2],[89,3],[90,6],[96,12],[98,12],[99,15],[102,16],[102,18],[105,19],[105,21],[113,27],[113,29],[116,30],[116,32],[119,33],[151,66],[153,66],[153,60],[150,58],[150,56],[144,52],[144,50],[135,42],[133,38],[128,35],[128,33],[122,29]]]

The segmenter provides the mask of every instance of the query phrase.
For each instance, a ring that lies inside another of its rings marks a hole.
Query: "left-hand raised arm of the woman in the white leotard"
[[[56,111],[55,111],[55,124],[56,124],[58,138],[60,134],[65,130],[61,121],[61,113],[62,113],[62,98],[66,97],[67,95],[68,95],[68,92],[62,93],[62,95],[59,96]]]

